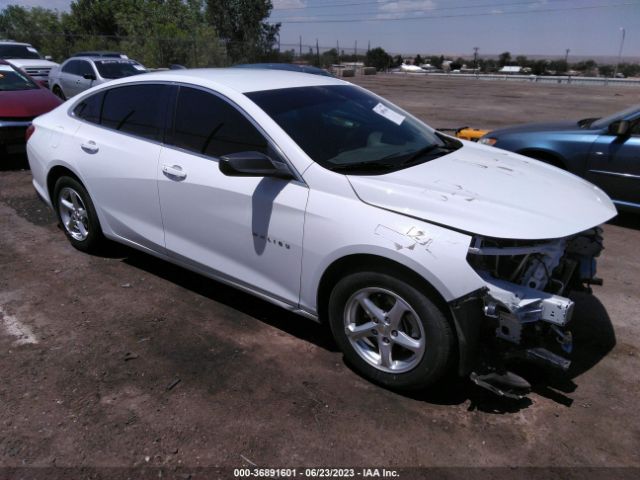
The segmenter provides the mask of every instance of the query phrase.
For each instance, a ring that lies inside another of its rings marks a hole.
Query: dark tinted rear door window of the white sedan
[[[107,90],[102,125],[150,140],[162,140],[167,85],[131,85]]]

